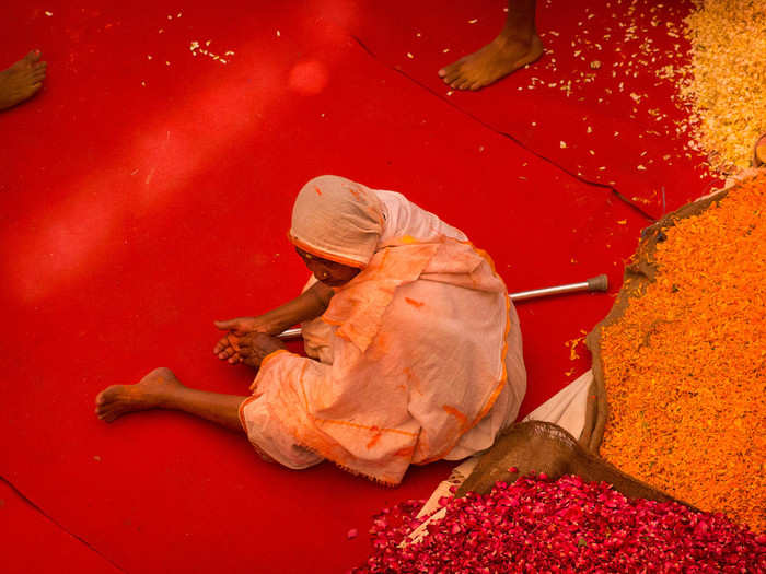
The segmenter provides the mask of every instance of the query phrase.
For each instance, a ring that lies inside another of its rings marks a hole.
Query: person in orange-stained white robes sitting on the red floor
[[[290,241],[314,278],[260,317],[218,324],[216,354],[258,368],[251,397],[195,390],[169,368],[96,399],[107,422],[185,411],[247,433],[266,459],[332,460],[398,484],[410,464],[492,445],[526,388],[519,320],[491,259],[401,194],[317,177]],[[302,323],[309,358],[274,337]]]

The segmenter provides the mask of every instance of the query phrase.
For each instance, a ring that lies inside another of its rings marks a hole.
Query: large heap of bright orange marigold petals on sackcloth
[[[601,454],[766,530],[766,174],[665,230],[655,282],[602,333]]]

